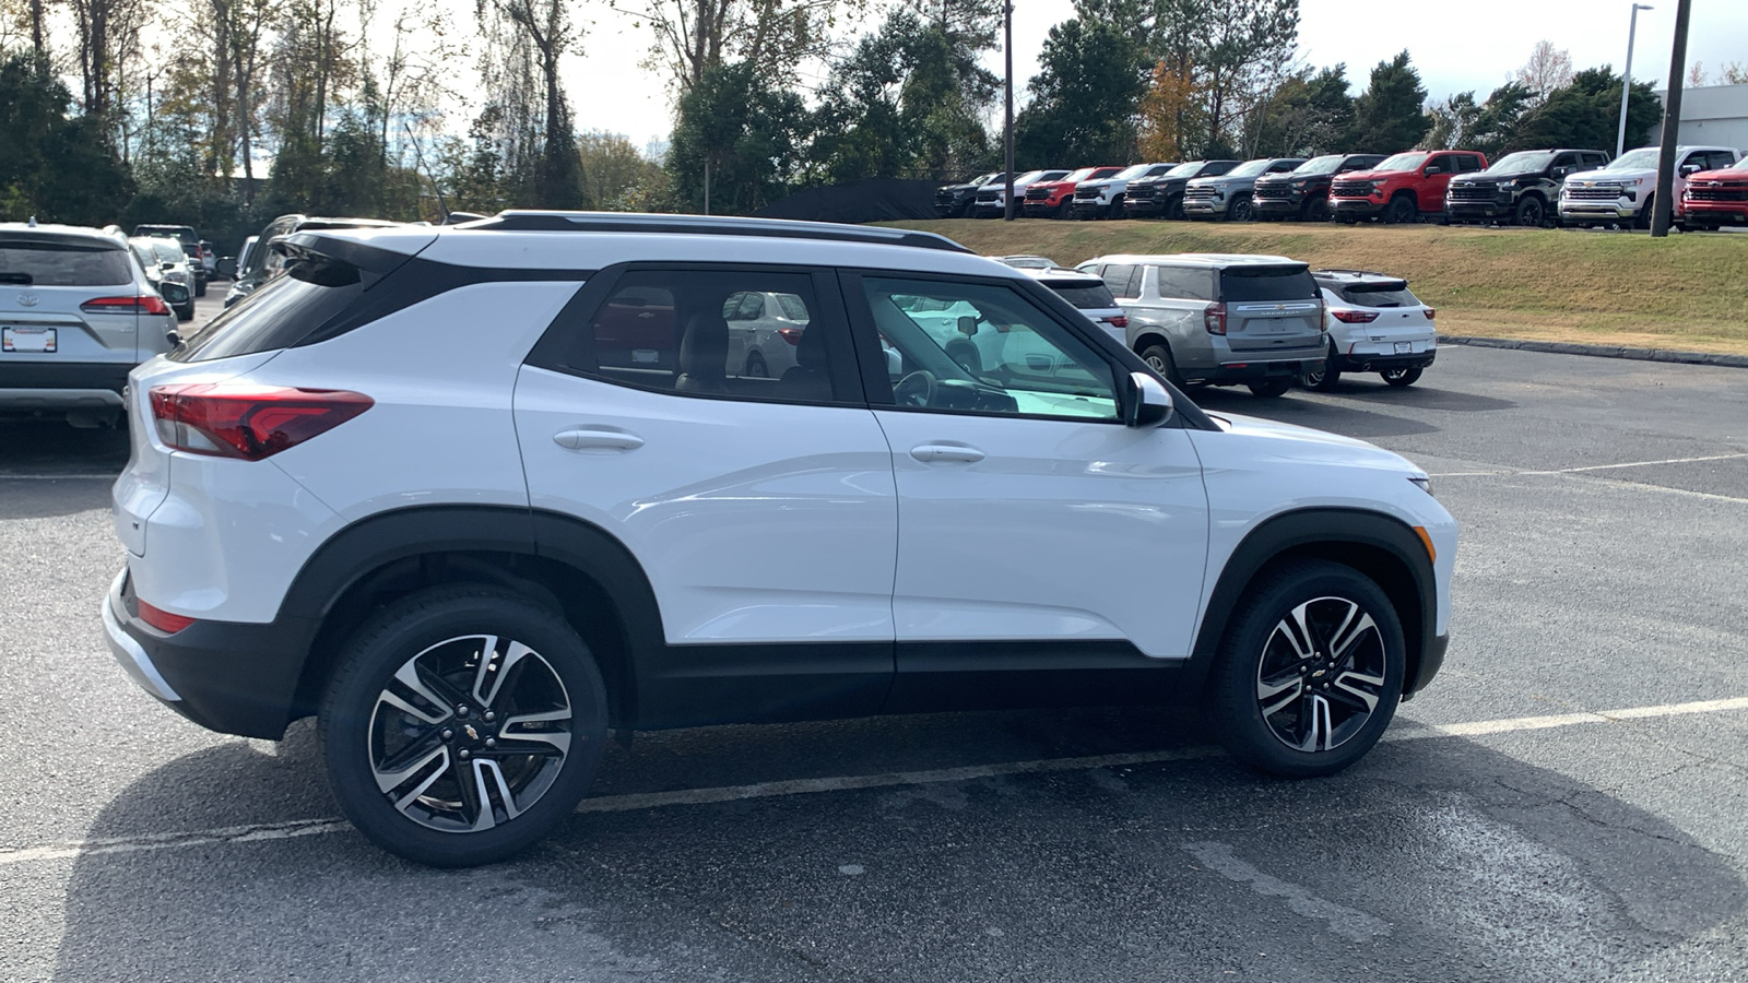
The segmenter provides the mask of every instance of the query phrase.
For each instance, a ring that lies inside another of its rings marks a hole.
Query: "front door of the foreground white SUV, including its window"
[[[865,376],[898,488],[895,694],[1189,656],[1208,502],[1185,432],[1124,427],[1126,373],[1017,285],[867,273],[846,299],[862,364],[879,338],[902,355]],[[909,313],[940,306],[1002,339],[975,371]]]

